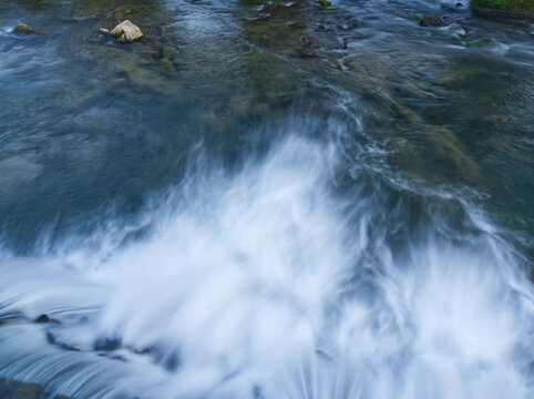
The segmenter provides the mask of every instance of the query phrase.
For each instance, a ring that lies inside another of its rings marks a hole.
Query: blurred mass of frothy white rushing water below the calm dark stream
[[[330,150],[292,137],[237,175],[193,173],[148,238],[97,262],[4,255],[0,377],[80,398],[532,397],[517,257],[439,217],[393,247],[376,221],[402,213],[378,188],[335,195]],[[40,314],[61,324],[24,321]]]

